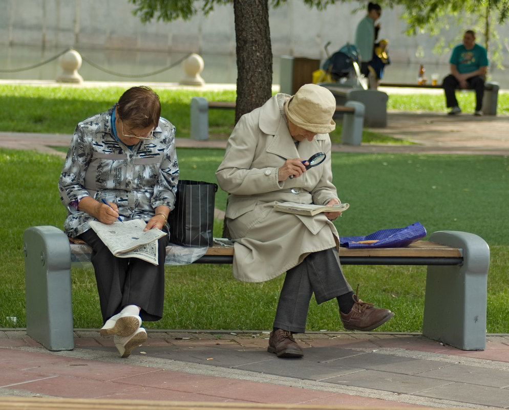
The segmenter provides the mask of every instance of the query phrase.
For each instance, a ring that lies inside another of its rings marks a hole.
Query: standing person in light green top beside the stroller
[[[381,7],[376,3],[368,4],[368,14],[359,21],[355,30],[355,47],[360,54],[360,73],[365,77],[369,75],[368,63],[373,59],[373,48],[375,45],[380,25],[375,26],[376,20],[380,18]]]

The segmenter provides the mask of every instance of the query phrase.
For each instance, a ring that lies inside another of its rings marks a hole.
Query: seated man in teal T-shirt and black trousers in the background
[[[463,44],[456,46],[449,60],[451,74],[443,79],[443,90],[446,93],[449,115],[461,113],[456,100],[455,90],[473,89],[476,94],[474,115],[482,115],[482,97],[484,95],[484,77],[489,65],[484,47],[475,44],[475,32],[465,31]]]

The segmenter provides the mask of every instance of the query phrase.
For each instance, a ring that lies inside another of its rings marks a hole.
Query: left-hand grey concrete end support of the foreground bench
[[[27,334],[48,350],[74,349],[71,247],[54,226],[25,230]]]

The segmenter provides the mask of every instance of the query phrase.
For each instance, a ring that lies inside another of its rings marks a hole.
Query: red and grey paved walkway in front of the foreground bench
[[[267,332],[149,331],[121,359],[97,330],[76,330],[74,350],[49,352],[24,329],[3,329],[0,396],[509,408],[509,335],[489,335],[482,352],[419,334],[300,336],[304,357],[283,359],[267,353]]]

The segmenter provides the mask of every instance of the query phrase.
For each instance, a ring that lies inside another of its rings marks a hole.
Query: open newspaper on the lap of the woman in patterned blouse
[[[116,221],[111,225],[98,221],[90,222],[90,227],[115,256],[137,257],[159,265],[157,240],[166,235],[166,232],[156,228],[143,231],[145,225],[145,221],[141,219]]]

